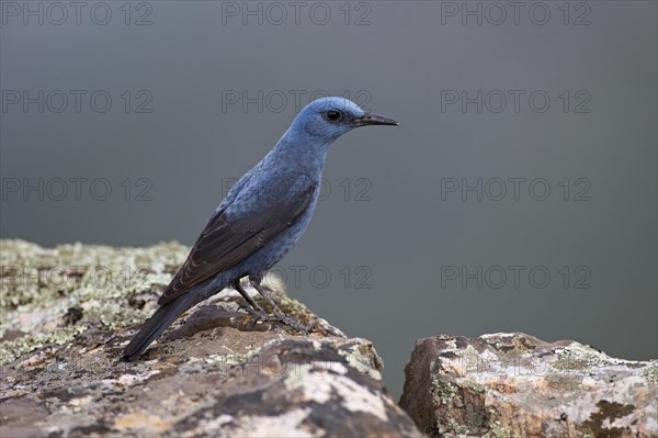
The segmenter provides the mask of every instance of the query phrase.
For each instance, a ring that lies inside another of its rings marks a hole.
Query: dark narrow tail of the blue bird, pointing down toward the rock
[[[149,321],[144,323],[137,335],[126,346],[123,360],[133,360],[141,355],[158,336],[169,327],[183,312],[198,303],[194,293],[185,293],[160,306]]]

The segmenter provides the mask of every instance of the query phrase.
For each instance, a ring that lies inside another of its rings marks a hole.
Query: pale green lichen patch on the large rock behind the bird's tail
[[[155,303],[188,251],[175,242],[147,248],[73,244],[48,249],[0,240],[0,363],[47,344],[66,344],[92,327],[144,322],[155,305],[135,308],[131,300],[144,296]],[[8,333],[11,340],[4,338]]]

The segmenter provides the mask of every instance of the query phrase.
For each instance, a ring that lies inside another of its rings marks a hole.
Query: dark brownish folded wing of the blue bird
[[[317,183],[308,182],[296,195],[258,212],[229,215],[226,209],[217,211],[158,304],[169,303],[269,244],[308,209],[316,188]]]

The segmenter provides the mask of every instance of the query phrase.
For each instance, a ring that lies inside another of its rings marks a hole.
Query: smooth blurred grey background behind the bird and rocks
[[[656,2],[86,4],[2,2],[2,238],[191,245],[341,94],[402,126],[333,145],[277,271],[394,394],[436,334],[658,356]]]

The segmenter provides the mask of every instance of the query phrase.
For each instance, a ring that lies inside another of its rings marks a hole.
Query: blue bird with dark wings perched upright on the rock
[[[321,98],[304,106],[274,147],[219,203],[158,299],[160,307],[125,347],[123,359],[138,358],[183,312],[228,287],[245,297],[251,306],[245,308],[254,321],[279,321],[306,332],[276,306],[261,281],[306,231],[318,201],[329,146],[341,135],[368,125],[399,123],[340,97]],[[242,288],[245,277],[273,314]]]

